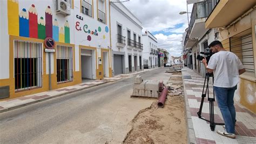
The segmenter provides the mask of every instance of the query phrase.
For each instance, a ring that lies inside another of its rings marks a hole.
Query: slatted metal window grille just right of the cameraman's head
[[[255,68],[251,34],[230,38],[230,51],[240,58],[242,64],[245,66],[246,72],[254,74]]]

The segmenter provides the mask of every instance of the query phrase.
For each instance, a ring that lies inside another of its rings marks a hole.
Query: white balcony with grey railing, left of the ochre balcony
[[[206,2],[194,3],[190,17],[190,38],[203,37],[207,31],[205,28],[205,20],[207,18]]]

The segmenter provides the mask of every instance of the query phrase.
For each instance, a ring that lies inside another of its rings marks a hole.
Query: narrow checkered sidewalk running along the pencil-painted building
[[[104,78],[103,80],[94,80],[94,81],[90,81],[90,82],[86,82],[86,83],[82,83],[82,84],[78,84],[78,85],[59,88],[59,89],[52,90],[52,91],[46,91],[46,92],[36,93],[36,94],[32,94],[32,95],[25,95],[23,97],[19,97],[19,98],[15,98],[15,99],[3,100],[3,101],[0,101],[0,113],[10,111],[11,109],[23,107],[26,105],[35,104],[37,102],[48,100],[51,98],[60,97],[65,94],[81,91],[81,90],[84,90],[84,89],[87,89],[90,87],[103,85],[103,84],[117,81],[117,80],[124,79],[124,78],[130,78],[134,75],[149,72],[149,71],[156,70],[156,69],[157,68],[145,69],[143,71],[133,72],[133,73],[129,73],[129,74],[119,74],[118,76],[114,76],[112,78]]]

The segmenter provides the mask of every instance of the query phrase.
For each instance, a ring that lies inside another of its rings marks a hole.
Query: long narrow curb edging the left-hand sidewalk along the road
[[[156,69],[157,69],[157,68],[154,68],[153,70],[156,70]],[[153,70],[150,70],[150,71],[153,71]],[[118,79],[118,80],[128,79],[128,78],[131,78],[131,77],[133,77],[133,76],[137,76],[138,74],[147,73],[147,72],[150,72],[150,71],[145,71],[145,72],[137,73],[137,74],[134,74],[134,75],[132,75],[132,76],[130,76],[130,77],[121,78],[121,79]],[[27,103],[25,103],[25,104],[13,106],[13,107],[8,107],[8,108],[3,108],[3,109],[0,109],[0,113],[4,113],[4,112],[8,112],[8,111],[17,109],[17,108],[21,108],[21,107],[29,106],[29,105],[32,105],[32,104],[36,104],[36,103],[38,103],[38,102],[42,102],[42,101],[45,101],[45,100],[49,100],[49,99],[61,97],[61,96],[66,95],[66,94],[71,94],[71,93],[83,91],[83,90],[86,90],[86,89],[89,89],[89,88],[92,88],[92,87],[96,87],[96,86],[99,86],[99,85],[104,85],[104,84],[107,84],[107,83],[113,83],[113,82],[116,82],[116,81],[118,81],[118,80],[114,80],[114,81],[105,81],[105,82],[103,82],[103,83],[96,84],[96,85],[91,85],[91,86],[84,87],[84,88],[80,88],[80,89],[78,89],[78,90],[74,90],[74,91],[70,91],[70,92],[66,92],[66,93],[62,93],[62,94],[58,94],[58,95],[53,95],[52,97],[42,98],[42,99],[38,99],[38,100],[35,100],[35,101],[27,102]]]

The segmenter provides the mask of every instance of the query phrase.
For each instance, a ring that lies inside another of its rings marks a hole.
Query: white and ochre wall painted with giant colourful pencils
[[[73,80],[68,83],[57,83],[56,53],[51,54],[52,89],[75,85],[82,82],[82,73],[80,66],[81,47],[96,50],[96,79],[103,79],[103,65],[99,65],[97,63],[97,59],[103,58],[103,52],[106,52],[108,54],[108,57],[105,58],[105,61],[107,60],[106,73],[109,73],[106,77],[112,77],[112,65],[109,62],[111,61],[109,1],[105,2],[106,24],[97,20],[97,0],[92,1],[92,17],[86,16],[84,15],[84,13],[81,13],[80,1],[74,1],[72,4],[73,6],[71,8],[71,15],[64,17],[61,14],[56,14],[56,1],[8,0],[0,2],[0,10],[2,13],[2,15],[0,16],[0,18],[2,19],[0,25],[0,42],[2,45],[0,47],[0,86],[10,86],[10,98],[16,98],[22,95],[28,95],[49,90],[48,53],[44,52],[45,46],[43,45],[42,87],[33,90],[15,92],[14,40],[25,40],[28,42],[37,42],[43,44],[44,38],[50,33],[50,35],[52,35],[50,37],[55,40],[56,45],[73,47]],[[51,15],[49,13],[51,13]],[[21,20],[21,18],[23,19]],[[42,31],[39,31],[39,24],[42,21],[43,23],[45,23],[45,25],[43,24],[40,26],[43,26],[43,28],[45,28],[45,31],[43,31],[43,33],[45,32],[45,37],[41,37],[43,36],[42,33],[40,33]],[[25,25],[25,23],[22,22],[31,22],[37,25]],[[52,30],[50,28],[52,28]],[[38,30],[37,35],[33,33],[35,32],[35,29]],[[27,33],[28,30],[30,30],[30,32],[32,33],[29,33],[29,35],[21,35],[21,31]]]

